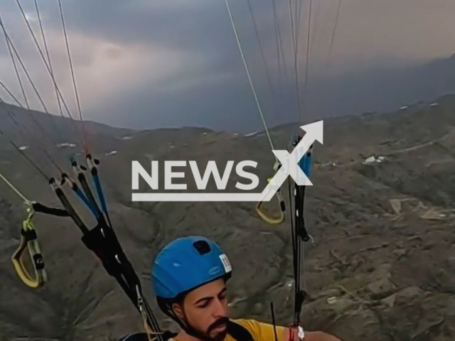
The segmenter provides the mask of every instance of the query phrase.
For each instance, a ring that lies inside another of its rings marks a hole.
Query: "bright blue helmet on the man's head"
[[[228,256],[210,239],[175,239],[156,256],[152,284],[157,298],[171,300],[218,278],[230,278]]]

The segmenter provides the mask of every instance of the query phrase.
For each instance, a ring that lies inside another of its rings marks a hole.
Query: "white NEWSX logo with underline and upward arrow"
[[[319,141],[323,144],[323,121],[317,121],[312,124],[301,126],[301,129],[306,131],[304,137],[299,141],[294,150],[289,153],[287,150],[273,150],[272,152],[281,163],[281,167],[269,181],[266,188],[261,193],[132,193],[132,201],[269,201],[272,199],[277,190],[282,186],[284,181],[290,175],[297,185],[311,186],[313,185],[305,173],[299,166],[299,161],[304,157],[306,151],[309,150],[314,141]],[[184,178],[185,173],[173,171],[173,167],[187,166],[189,164],[193,178],[196,182],[198,190],[205,190],[207,187],[210,174],[213,174],[215,184],[218,190],[225,190],[228,185],[228,180],[234,161],[228,161],[228,164],[220,176],[218,167],[215,161],[208,161],[203,176],[200,175],[196,161],[164,161],[164,189],[165,190],[186,190],[185,183],[172,183],[173,178]],[[235,173],[242,178],[251,181],[249,184],[237,182],[235,187],[240,190],[254,190],[259,185],[259,178],[254,173],[245,171],[245,167],[256,168],[255,161],[240,161],[235,166]],[[139,175],[143,178],[152,190],[159,190],[158,173],[159,161],[151,161],[151,173],[148,173],[138,161],[132,161],[132,190],[139,190]]]

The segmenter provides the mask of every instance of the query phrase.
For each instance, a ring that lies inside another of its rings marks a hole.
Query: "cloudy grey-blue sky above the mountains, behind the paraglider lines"
[[[277,55],[273,2],[284,58]],[[297,65],[302,89],[310,1],[301,2]],[[71,112],[77,115],[58,1],[38,3],[56,80]],[[229,0],[259,104],[272,124],[296,121],[289,0],[250,3],[267,68],[248,1]],[[188,125],[260,128],[224,0],[62,0],[62,4],[85,119],[134,129]],[[42,43],[33,0],[21,0],[21,5]],[[344,101],[336,96],[338,89],[374,84],[372,77],[382,72],[378,70],[419,67],[455,52],[453,0],[341,0],[329,58],[337,5],[337,0],[313,0],[311,4],[311,58],[301,105],[313,116]],[[16,0],[0,0],[0,14],[46,106],[58,114],[53,83]],[[2,41],[0,79],[23,102]],[[42,110],[23,74],[22,79],[32,107]],[[1,97],[12,102],[4,92]],[[328,103],[331,107],[324,107]]]

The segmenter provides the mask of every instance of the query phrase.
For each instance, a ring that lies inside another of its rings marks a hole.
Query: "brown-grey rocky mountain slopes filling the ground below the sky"
[[[454,110],[437,106],[324,124],[324,144],[315,147],[319,169],[307,193],[306,220],[315,243],[305,247],[305,328],[346,341],[454,340]],[[285,146],[295,129],[273,129],[276,146]],[[175,328],[154,303],[151,260],[166,242],[190,233],[215,239],[230,256],[233,315],[269,321],[273,301],[277,322],[289,324],[289,222],[262,222],[252,202],[130,201],[132,160],[252,158],[264,183],[273,161],[264,135],[191,128],[134,132],[132,139],[114,135],[90,139],[101,159],[114,228],[163,327]],[[36,149],[26,153],[57,175]],[[68,162],[70,152],[53,151]],[[1,172],[31,200],[58,204],[46,181],[6,145]],[[4,183],[0,193],[1,341],[115,341],[141,330],[131,303],[65,218],[36,217],[49,281],[38,290],[24,286],[10,261],[21,201]]]

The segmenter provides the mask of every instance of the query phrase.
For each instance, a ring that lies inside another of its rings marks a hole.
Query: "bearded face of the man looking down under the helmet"
[[[205,340],[220,341],[226,337],[228,301],[225,281],[221,278],[200,286],[183,300],[185,322]]]

